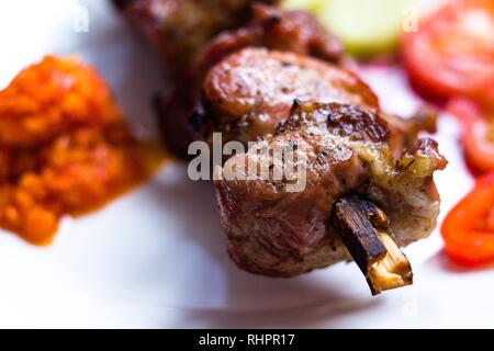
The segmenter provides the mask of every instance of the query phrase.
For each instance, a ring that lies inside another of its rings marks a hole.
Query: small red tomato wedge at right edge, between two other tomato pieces
[[[448,111],[460,118],[467,163],[474,173],[494,171],[494,114],[464,99],[452,100]]]

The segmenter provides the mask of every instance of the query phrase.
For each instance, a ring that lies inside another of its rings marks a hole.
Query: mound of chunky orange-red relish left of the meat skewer
[[[36,245],[150,174],[96,70],[46,56],[0,91],[0,227]]]

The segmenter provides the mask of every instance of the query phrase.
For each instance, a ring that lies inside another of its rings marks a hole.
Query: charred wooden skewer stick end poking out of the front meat
[[[388,217],[375,204],[358,195],[341,197],[334,205],[332,222],[372,295],[413,283],[408,259],[394,242]]]

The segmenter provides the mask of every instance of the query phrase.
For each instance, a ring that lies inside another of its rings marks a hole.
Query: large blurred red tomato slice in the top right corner
[[[404,35],[412,83],[426,94],[494,105],[494,1],[453,0]]]

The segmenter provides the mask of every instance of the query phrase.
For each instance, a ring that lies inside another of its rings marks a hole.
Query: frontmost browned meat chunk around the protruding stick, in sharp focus
[[[446,160],[431,139],[416,140],[395,159],[389,145],[393,131],[386,117],[364,107],[295,105],[274,136],[232,157],[223,168],[247,178],[242,170],[249,162],[257,170],[268,162],[268,179],[215,181],[232,259],[244,270],[271,276],[292,276],[350,259],[329,223],[335,201],[347,194],[363,195],[382,208],[398,246],[428,236],[440,203],[433,173]],[[266,146],[287,145],[306,156],[301,192],[289,192],[285,179],[273,179],[276,168],[285,166],[260,152]]]

